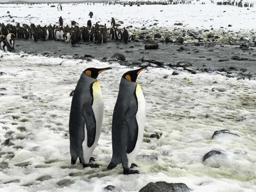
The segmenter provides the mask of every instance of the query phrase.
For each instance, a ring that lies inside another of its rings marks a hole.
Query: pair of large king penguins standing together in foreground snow
[[[128,71],[121,78],[112,119],[113,154],[107,167],[109,170],[122,163],[123,174],[138,173],[130,168],[142,144],[146,103],[136,79],[146,67]],[[97,77],[109,69],[112,68],[88,68],[77,82],[69,118],[71,165],[79,158],[83,167],[99,167],[98,164],[90,163],[95,161],[91,155],[100,138],[104,113],[103,96]]]

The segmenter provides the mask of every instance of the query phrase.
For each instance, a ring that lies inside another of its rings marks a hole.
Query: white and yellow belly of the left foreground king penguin
[[[90,157],[97,146],[97,143],[100,138],[101,129],[102,129],[102,122],[103,122],[103,113],[104,113],[104,103],[103,103],[103,96],[101,93],[101,88],[98,83],[98,81],[94,81],[92,85],[93,90],[93,103],[92,103],[92,111],[95,117],[96,121],[96,134],[95,134],[95,140],[91,147],[88,147],[87,145],[87,129],[86,124],[84,124],[84,141],[82,143],[83,147],[83,158],[85,164],[89,163]]]

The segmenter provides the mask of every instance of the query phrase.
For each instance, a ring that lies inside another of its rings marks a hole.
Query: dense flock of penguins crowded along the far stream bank
[[[90,12],[92,13],[92,12]],[[90,16],[90,14],[89,14]],[[99,25],[98,22],[92,25],[91,20],[87,21],[87,26],[79,27],[76,21],[71,21],[71,26],[63,26],[63,19],[60,16],[59,25],[40,26],[33,23],[30,26],[17,23],[16,26],[12,24],[0,23],[1,34],[1,48],[4,51],[14,49],[14,38],[18,39],[32,39],[37,40],[57,40],[70,43],[71,46],[76,46],[81,40],[84,42],[94,41],[97,44],[106,43],[109,40],[120,40],[125,44],[133,40],[134,34],[127,31],[125,27],[118,28],[119,24],[115,23],[115,19],[111,18],[111,27],[107,28],[105,25]],[[9,49],[8,47],[11,47]]]

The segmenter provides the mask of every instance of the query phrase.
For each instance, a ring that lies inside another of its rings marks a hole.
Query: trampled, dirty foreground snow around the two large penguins
[[[141,174],[123,175],[121,165],[111,171],[106,167],[112,156],[111,122],[120,78],[131,68],[22,55],[9,53],[0,61],[0,72],[7,73],[0,76],[0,93],[6,94],[0,97],[1,192],[98,192],[107,185],[138,191],[156,181],[182,182],[196,192],[256,191],[256,81],[144,70],[137,82],[144,92],[147,119],[134,161]],[[88,67],[113,68],[98,77],[105,103],[103,131],[92,155],[102,165],[98,169],[82,168],[79,162],[70,165],[69,94]],[[215,87],[226,91],[212,91]],[[223,129],[241,137],[211,139],[214,131]],[[150,138],[153,133],[161,137]],[[223,150],[226,158],[203,163],[212,149]]]

